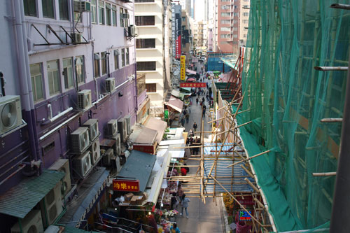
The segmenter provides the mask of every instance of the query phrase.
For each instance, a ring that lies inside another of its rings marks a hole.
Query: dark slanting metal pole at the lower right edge
[[[350,57],[349,57],[350,60]],[[342,123],[342,138],[340,139],[337,176],[333,195],[330,232],[350,232],[350,71],[348,70],[344,115]]]

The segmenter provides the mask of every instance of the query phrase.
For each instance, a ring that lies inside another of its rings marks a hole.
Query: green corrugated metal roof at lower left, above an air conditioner
[[[63,177],[62,171],[43,169],[41,176],[25,178],[0,197],[0,213],[25,218]]]

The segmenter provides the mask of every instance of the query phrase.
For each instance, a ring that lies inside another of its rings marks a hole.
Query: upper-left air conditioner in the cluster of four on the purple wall
[[[90,144],[89,130],[87,127],[78,127],[71,133],[71,152],[82,153]]]

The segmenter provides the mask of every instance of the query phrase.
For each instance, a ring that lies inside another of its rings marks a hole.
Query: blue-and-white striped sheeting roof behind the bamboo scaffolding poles
[[[228,143],[225,143],[228,144]],[[224,145],[225,145],[224,144]],[[217,145],[217,147],[216,147]],[[204,143],[204,156],[208,155],[216,155],[215,150],[220,150],[222,143]],[[210,147],[211,146],[211,147]],[[223,146],[223,151],[232,150],[232,144],[228,146]],[[227,190],[231,190],[232,192],[253,192],[253,189],[251,188],[246,181],[244,181],[244,178],[248,176],[246,171],[241,168],[241,165],[244,166],[244,163],[237,164],[233,167],[233,174],[232,169],[228,169],[228,165],[232,164],[232,160],[227,160],[228,158],[232,158],[231,155],[226,155],[226,152],[221,152],[221,155],[218,158],[218,161],[216,162],[216,166],[214,167],[213,171],[211,171],[211,174],[216,174],[216,176],[224,176],[224,177],[231,177],[231,176],[237,176],[237,178],[233,178],[233,182],[235,185],[231,185],[232,178],[216,178],[220,183],[223,184],[223,186]],[[204,160],[204,176],[207,176],[209,174],[211,166],[213,165],[214,160]],[[251,182],[254,182],[253,178],[248,177],[248,179]],[[214,180],[211,180],[209,178],[209,183],[207,183],[205,187],[207,192],[214,192]],[[225,192],[225,190],[220,186],[216,185],[215,192]]]

